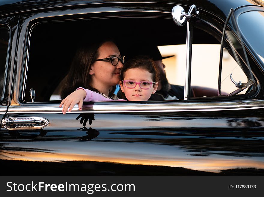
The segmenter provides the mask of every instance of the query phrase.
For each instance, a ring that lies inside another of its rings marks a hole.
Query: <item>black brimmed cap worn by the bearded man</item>
[[[161,52],[158,49],[158,46],[154,46],[154,45],[142,45],[142,44],[138,44],[138,45],[134,45],[133,47],[130,47],[129,48],[129,51],[127,52],[127,55],[126,56],[128,58],[132,58],[132,57],[135,57],[137,55],[146,55],[146,56],[149,56],[154,61],[162,60],[162,59],[170,58],[170,57],[173,57],[174,56],[174,55],[170,55],[170,56],[162,57],[161,56]]]

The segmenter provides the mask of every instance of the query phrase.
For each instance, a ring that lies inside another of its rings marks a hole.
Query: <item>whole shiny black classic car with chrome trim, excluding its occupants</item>
[[[187,13],[192,4],[199,10],[190,19],[193,43],[229,50],[244,84],[252,82],[243,94],[234,86],[229,95],[218,89],[218,95],[186,100],[91,102],[65,115],[49,99],[84,37],[108,34],[128,56],[135,42],[184,44],[186,25],[177,26],[171,11],[181,5]],[[1,1],[1,174],[263,175],[263,6],[249,0]],[[243,15],[252,12],[257,16]]]

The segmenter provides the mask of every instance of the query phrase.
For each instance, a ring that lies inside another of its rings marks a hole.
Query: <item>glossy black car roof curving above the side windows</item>
[[[0,0],[0,16],[17,14],[20,12],[31,12],[32,10],[49,9],[56,10],[58,8],[68,6],[91,6],[99,4],[130,4],[140,5],[140,7],[155,7],[155,10],[163,10],[162,4],[174,5],[187,5],[195,4],[199,9],[207,10],[211,13],[223,13],[225,16],[229,13],[231,8],[235,9],[244,5],[262,5],[264,2],[261,0],[151,0],[151,1],[131,1],[131,0]],[[151,6],[150,6],[151,5]],[[167,6],[166,6],[167,7]],[[186,11],[186,10],[185,10]]]

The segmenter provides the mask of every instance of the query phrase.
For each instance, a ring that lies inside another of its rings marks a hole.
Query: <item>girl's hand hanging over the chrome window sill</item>
[[[83,99],[86,97],[86,91],[83,89],[75,90],[73,93],[71,93],[69,96],[64,98],[61,101],[60,107],[63,106],[62,108],[62,113],[65,114],[68,110],[68,112],[71,112],[72,108],[78,104],[79,110],[82,110],[82,103]]]

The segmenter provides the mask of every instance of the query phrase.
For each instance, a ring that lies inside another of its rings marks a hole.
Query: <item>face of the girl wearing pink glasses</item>
[[[130,68],[124,73],[124,81],[131,80],[135,82],[153,82],[152,73],[141,68]],[[130,83],[130,82],[128,82]],[[152,84],[149,89],[142,89],[139,84],[135,88],[127,88],[125,82],[119,82],[122,92],[130,101],[149,100],[151,94],[154,94],[158,88],[158,82]],[[133,84],[131,82],[130,84]]]

